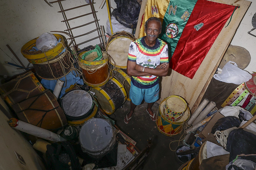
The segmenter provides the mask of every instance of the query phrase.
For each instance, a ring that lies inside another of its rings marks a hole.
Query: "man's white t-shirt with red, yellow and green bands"
[[[149,47],[145,43],[145,37],[132,41],[129,47],[128,60],[136,62],[143,67],[156,68],[160,63],[169,63],[167,44],[156,39],[153,47]],[[158,76],[132,76],[132,83],[138,88],[151,88],[159,82]]]

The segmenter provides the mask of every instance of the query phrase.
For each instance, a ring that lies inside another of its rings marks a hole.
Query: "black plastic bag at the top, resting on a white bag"
[[[115,0],[112,16],[127,28],[136,28],[141,5],[136,0]]]

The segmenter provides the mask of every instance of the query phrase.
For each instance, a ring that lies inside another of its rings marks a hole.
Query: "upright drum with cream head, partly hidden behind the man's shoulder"
[[[112,34],[107,42],[106,51],[112,57],[111,64],[118,68],[126,69],[129,46],[135,38],[132,34],[120,31]]]

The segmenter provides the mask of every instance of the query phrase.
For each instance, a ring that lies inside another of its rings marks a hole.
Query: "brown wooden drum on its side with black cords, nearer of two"
[[[49,90],[12,106],[18,118],[43,129],[56,131],[67,125],[67,119]]]

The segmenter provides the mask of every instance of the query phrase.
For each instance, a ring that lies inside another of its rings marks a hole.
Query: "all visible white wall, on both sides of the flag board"
[[[53,1],[53,0],[52,0]],[[251,54],[251,63],[244,70],[256,71],[254,69],[254,65],[256,64],[256,48],[255,42],[256,37],[249,35],[247,32],[250,31],[252,27],[252,16],[256,12],[256,0],[251,0],[252,4],[248,9],[247,13],[244,16],[237,32],[235,33],[234,39],[231,44],[236,46],[241,46],[246,48]],[[48,0],[49,2],[49,0]],[[106,20],[108,19],[107,7],[104,5],[103,9],[99,9],[101,4],[101,0],[95,0],[95,10],[98,11],[96,13],[97,18],[100,19],[99,25],[103,25],[106,30]],[[104,0],[105,2],[105,0]],[[64,8],[73,7],[76,5],[85,4],[85,0],[67,0],[62,2]],[[6,44],[9,44],[12,50],[18,55],[20,60],[27,66],[28,61],[21,55],[20,49],[21,47],[28,41],[33,38],[38,37],[42,33],[50,32],[50,31],[63,31],[66,28],[65,23],[61,22],[63,20],[62,14],[58,13],[60,11],[59,5],[57,3],[52,4],[53,7],[47,5],[43,0],[14,0],[14,1],[0,1],[0,75],[8,75],[12,76],[14,74],[18,74],[23,72],[23,70],[17,70],[16,67],[5,64],[4,61],[8,61],[11,63],[18,63],[15,57],[12,55],[10,50],[6,47]],[[111,0],[111,6],[116,8],[116,4],[114,0]],[[84,13],[90,12],[90,8],[88,6],[83,10],[74,10],[67,12],[67,17],[75,15],[81,15]],[[111,9],[112,11],[113,9]],[[70,22],[72,26],[81,25],[81,23],[87,23],[92,21],[92,15],[73,20]],[[93,25],[92,25],[93,26]],[[84,32],[78,32],[77,34],[86,33],[87,29],[85,28]],[[73,32],[75,34],[75,31]],[[256,34],[256,30],[252,32]],[[62,34],[63,35],[63,34]],[[67,35],[65,35],[68,38]],[[95,36],[95,34],[94,34]],[[79,41],[85,41],[89,39],[89,36],[82,37]],[[78,43],[78,42],[77,42]],[[88,45],[95,45],[95,41],[92,41],[91,44],[84,44],[79,46],[79,48],[87,47]],[[11,58],[9,58],[7,55]],[[14,61],[13,61],[14,60]],[[19,64],[19,63],[18,63]],[[20,64],[19,64],[20,65]]]

